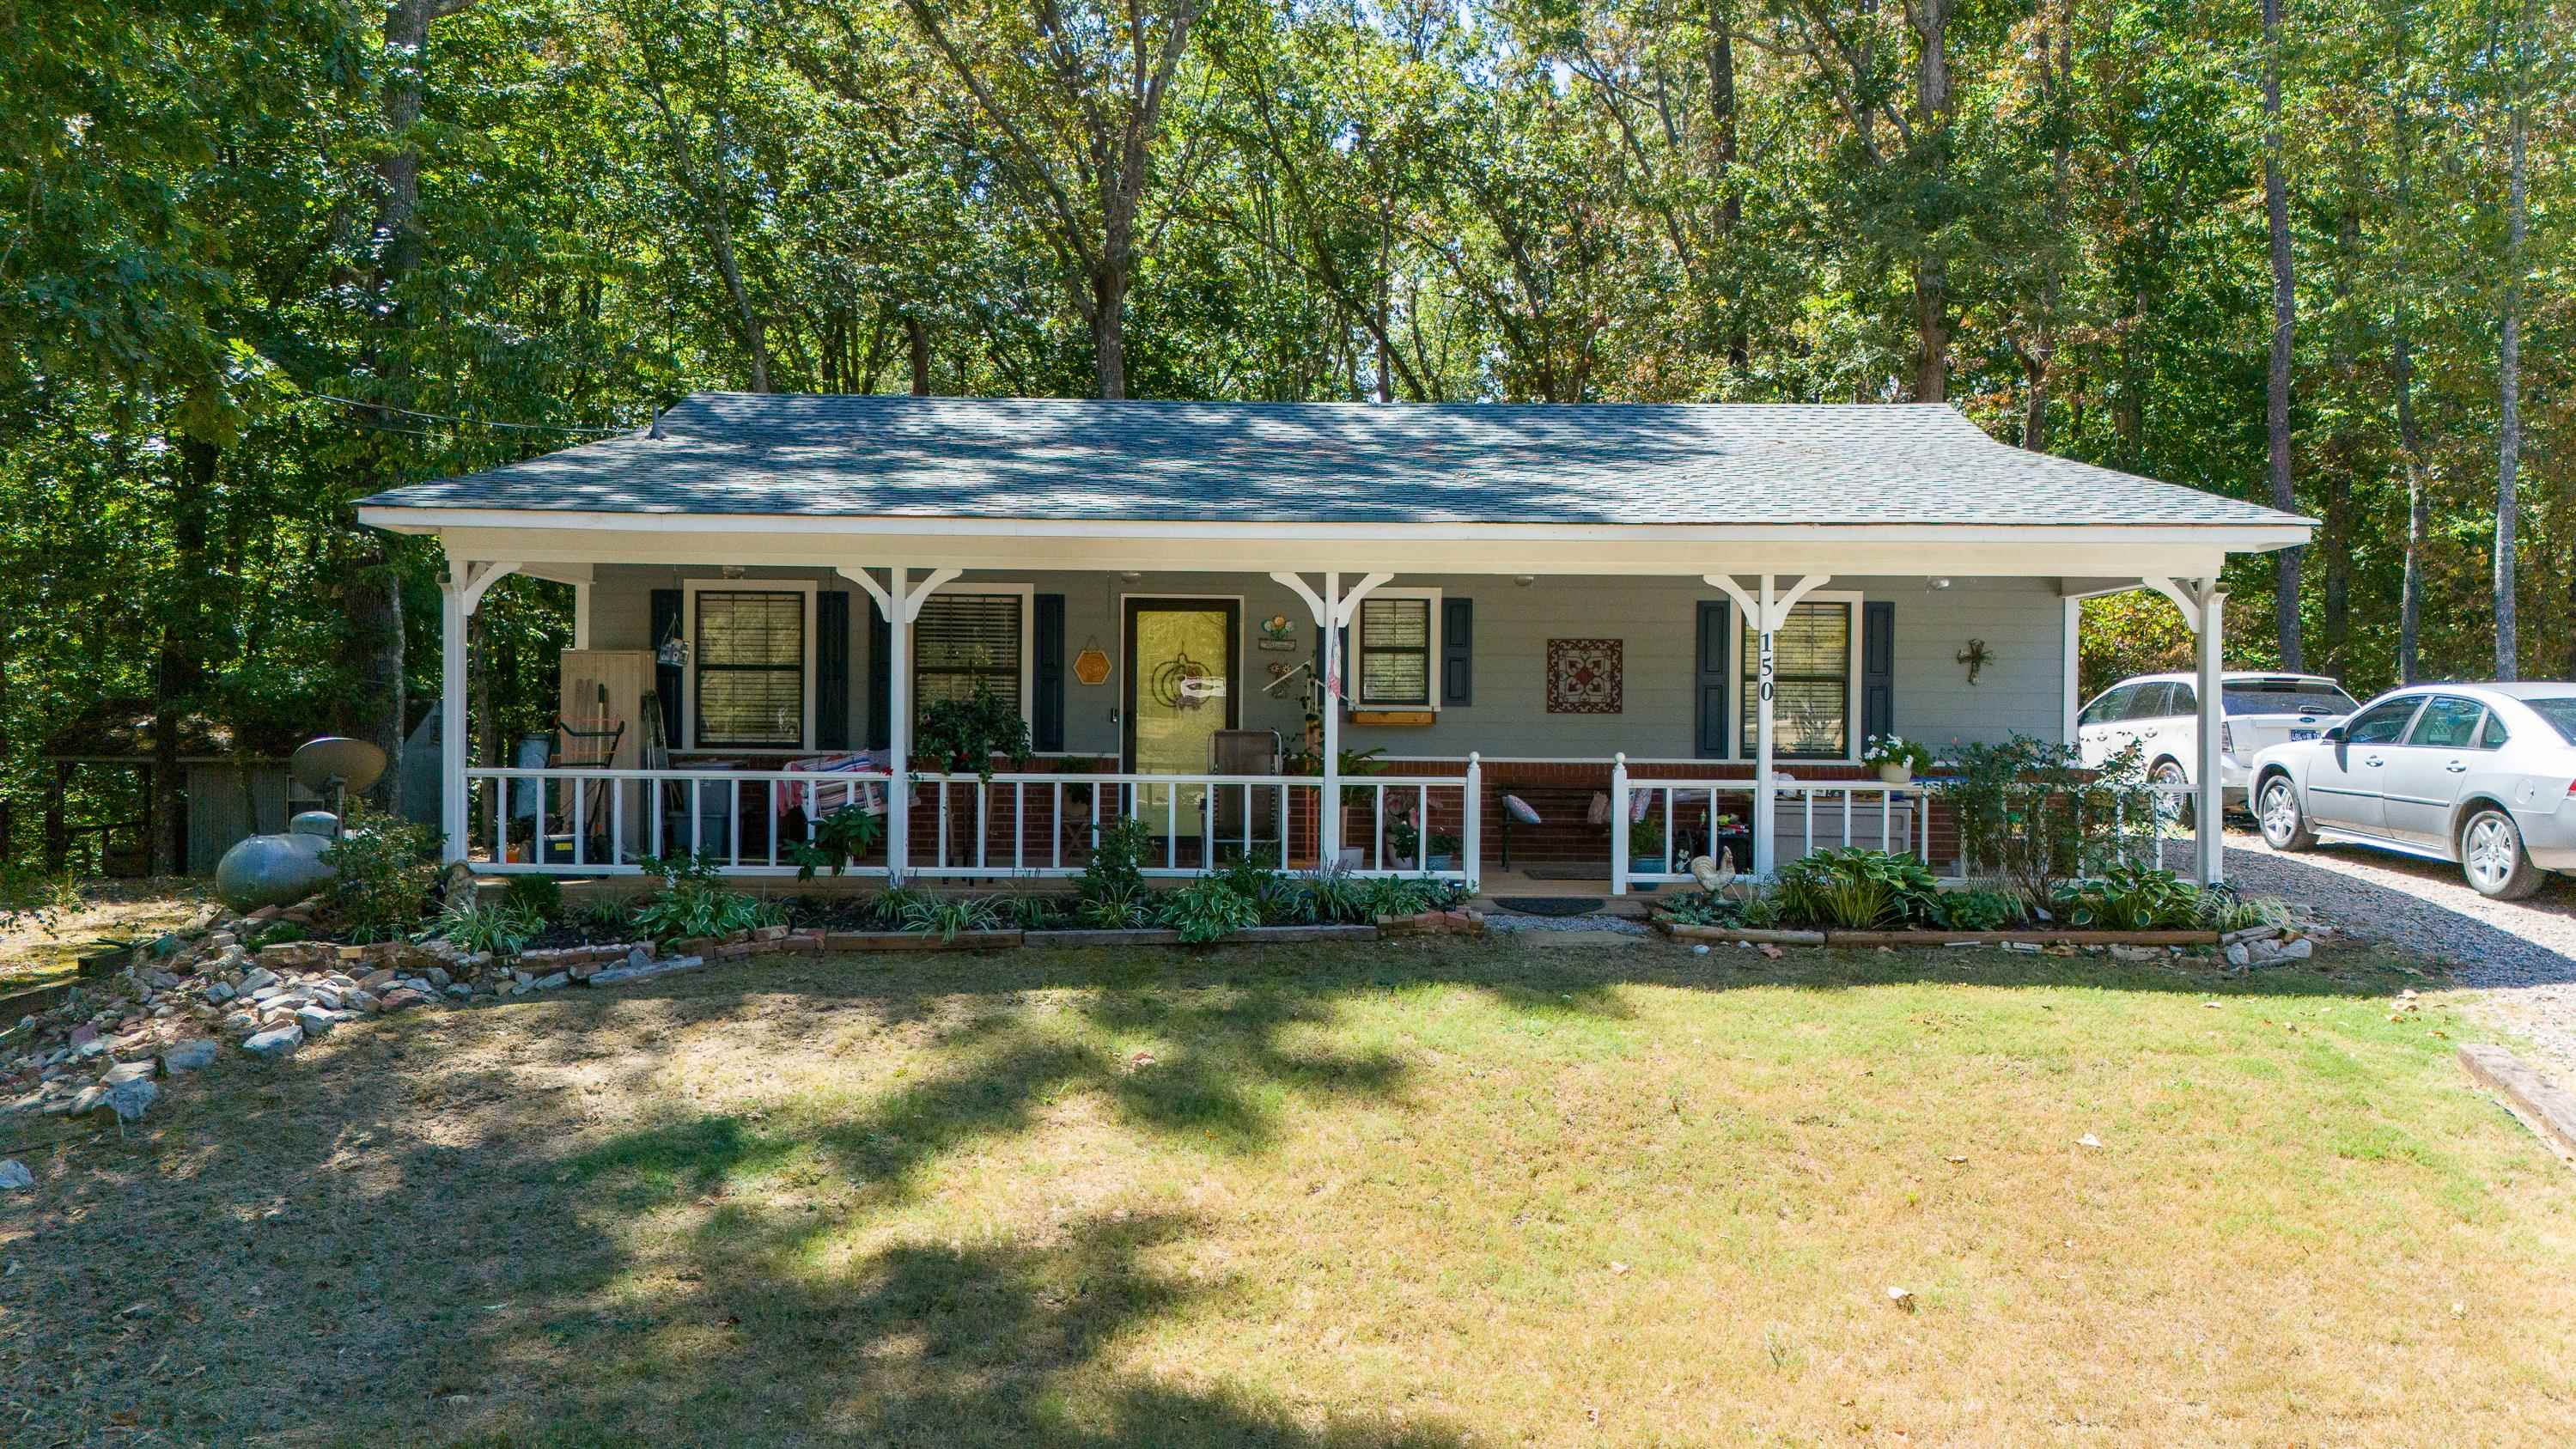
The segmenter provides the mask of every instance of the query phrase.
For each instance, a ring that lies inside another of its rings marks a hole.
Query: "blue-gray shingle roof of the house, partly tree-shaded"
[[[1239,404],[698,394],[379,507],[1221,522],[2280,525],[1940,404]]]

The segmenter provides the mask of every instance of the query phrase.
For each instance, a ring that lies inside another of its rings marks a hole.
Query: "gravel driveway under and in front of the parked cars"
[[[2174,852],[2190,865],[2190,844]],[[2486,993],[2486,1014],[2537,1048],[2576,1084],[2576,883],[2550,878],[2530,901],[2488,901],[2458,865],[2360,844],[2275,854],[2251,831],[2228,831],[2228,880],[2249,896],[2308,901],[2339,932],[2439,960]]]

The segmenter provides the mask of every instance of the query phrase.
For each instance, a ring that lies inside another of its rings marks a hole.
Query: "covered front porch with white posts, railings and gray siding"
[[[881,829],[827,880],[1038,888],[1133,818],[1154,878],[1252,857],[1486,896],[1620,896],[1698,854],[1770,875],[1821,847],[1965,878],[1935,780],[1880,780],[1865,741],[2069,739],[2074,600],[2117,582],[461,561],[451,679],[510,569],[572,582],[574,649],[533,757],[469,759],[446,692],[446,849],[479,872],[703,857],[788,880],[858,808]],[[2138,584],[2218,618],[2208,579]],[[1020,713],[1028,759],[920,749],[925,695],[969,687]],[[2169,824],[2138,818],[2141,849]]]

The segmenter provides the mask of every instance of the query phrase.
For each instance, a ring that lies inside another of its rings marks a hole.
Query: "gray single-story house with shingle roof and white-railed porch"
[[[1870,736],[2074,739],[2076,600],[2313,520],[2007,448],[1950,407],[1370,407],[701,394],[649,430],[376,494],[443,584],[446,854],[791,875],[1069,875],[1115,816],[1157,870],[1236,854],[1502,891],[1770,872],[1955,839]],[[466,754],[466,620],[574,587],[562,731]],[[1036,754],[927,759],[992,695]],[[2197,762],[2200,821],[2218,764]],[[2200,875],[2218,836],[2200,831]]]

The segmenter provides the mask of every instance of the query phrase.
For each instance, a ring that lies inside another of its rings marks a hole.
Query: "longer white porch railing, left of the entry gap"
[[[933,880],[1079,875],[1100,847],[1100,824],[1141,818],[1159,839],[1154,878],[1221,870],[1236,854],[1280,865],[1311,862],[1321,836],[1324,780],[1316,775],[1139,775],[1007,770],[989,777],[909,772],[914,816],[927,808],[925,849],[886,842],[884,857],[845,865],[845,875]],[[479,870],[520,875],[636,875],[644,857],[711,857],[726,875],[796,875],[796,847],[817,821],[845,806],[886,813],[886,772],[817,775],[799,770],[592,770],[471,767],[466,793],[484,806],[487,860]],[[1476,885],[1484,849],[1484,777],[1345,777],[1342,806],[1365,813],[1368,836],[1345,839],[1352,875],[1427,875]],[[922,798],[927,795],[927,800]],[[757,811],[744,826],[744,800]],[[788,831],[788,806],[804,834]],[[1350,818],[1345,808],[1345,821]],[[518,829],[518,818],[528,829]],[[768,829],[760,829],[765,821]],[[1396,849],[1409,826],[1409,852]],[[1432,839],[1455,826],[1458,849]],[[1440,860],[1448,854],[1450,860]],[[1435,865],[1437,862],[1437,865]]]

